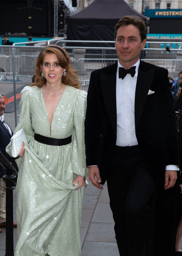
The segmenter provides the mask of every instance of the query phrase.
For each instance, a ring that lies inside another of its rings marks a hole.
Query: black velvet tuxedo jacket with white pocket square
[[[87,166],[98,165],[105,183],[116,144],[117,62],[91,73],[85,118]],[[153,94],[147,95],[149,89]],[[124,113],[123,113],[124,114]],[[135,92],[138,145],[156,182],[164,183],[165,166],[179,165],[175,112],[168,71],[140,61]]]

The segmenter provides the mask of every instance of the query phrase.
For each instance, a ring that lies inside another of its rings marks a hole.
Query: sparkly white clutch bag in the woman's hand
[[[22,142],[27,143],[24,129],[20,129],[11,137],[12,151],[11,154],[13,157],[19,155],[20,149],[22,148]]]

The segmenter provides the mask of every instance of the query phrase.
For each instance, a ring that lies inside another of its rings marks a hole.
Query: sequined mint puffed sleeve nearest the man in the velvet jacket
[[[88,176],[86,167],[85,142],[84,142],[84,121],[87,107],[87,93],[79,91],[74,110],[74,130],[72,147],[72,171],[82,177]]]

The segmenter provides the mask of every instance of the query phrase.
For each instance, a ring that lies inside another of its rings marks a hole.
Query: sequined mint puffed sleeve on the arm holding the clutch
[[[19,103],[19,122],[14,131],[14,134],[19,131],[20,129],[24,129],[25,136],[27,139],[27,143],[31,140],[34,136],[32,123],[31,123],[31,111],[30,111],[30,97],[31,97],[31,87],[25,86],[24,89],[21,91],[21,100]],[[11,154],[11,142],[6,147],[6,152],[12,156]]]

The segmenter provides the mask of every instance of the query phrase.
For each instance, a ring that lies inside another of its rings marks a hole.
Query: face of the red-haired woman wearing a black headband
[[[45,55],[42,65],[40,66],[44,72],[46,84],[61,84],[64,68],[59,66],[56,54],[48,53]]]

